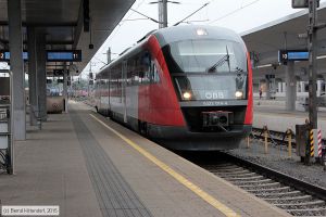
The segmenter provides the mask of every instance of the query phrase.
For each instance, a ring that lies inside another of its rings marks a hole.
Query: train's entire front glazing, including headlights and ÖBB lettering
[[[240,43],[185,40],[163,52],[180,100],[247,99],[247,56]]]

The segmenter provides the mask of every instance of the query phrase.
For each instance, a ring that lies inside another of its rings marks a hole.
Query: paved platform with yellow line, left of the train
[[[0,175],[2,205],[87,217],[289,216],[78,102],[15,148],[15,175]]]

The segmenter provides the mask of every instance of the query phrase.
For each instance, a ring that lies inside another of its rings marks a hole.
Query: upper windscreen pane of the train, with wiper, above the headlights
[[[228,40],[184,40],[163,48],[174,73],[247,72],[243,46]]]

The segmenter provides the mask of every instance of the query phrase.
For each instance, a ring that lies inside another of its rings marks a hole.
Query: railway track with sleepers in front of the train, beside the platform
[[[326,216],[326,189],[227,153],[186,158],[293,216]]]

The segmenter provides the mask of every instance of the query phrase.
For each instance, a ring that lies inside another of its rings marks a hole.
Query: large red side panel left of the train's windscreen
[[[163,52],[154,36],[149,38],[146,49],[155,61],[160,82],[139,86],[139,119],[155,125],[186,126]]]

